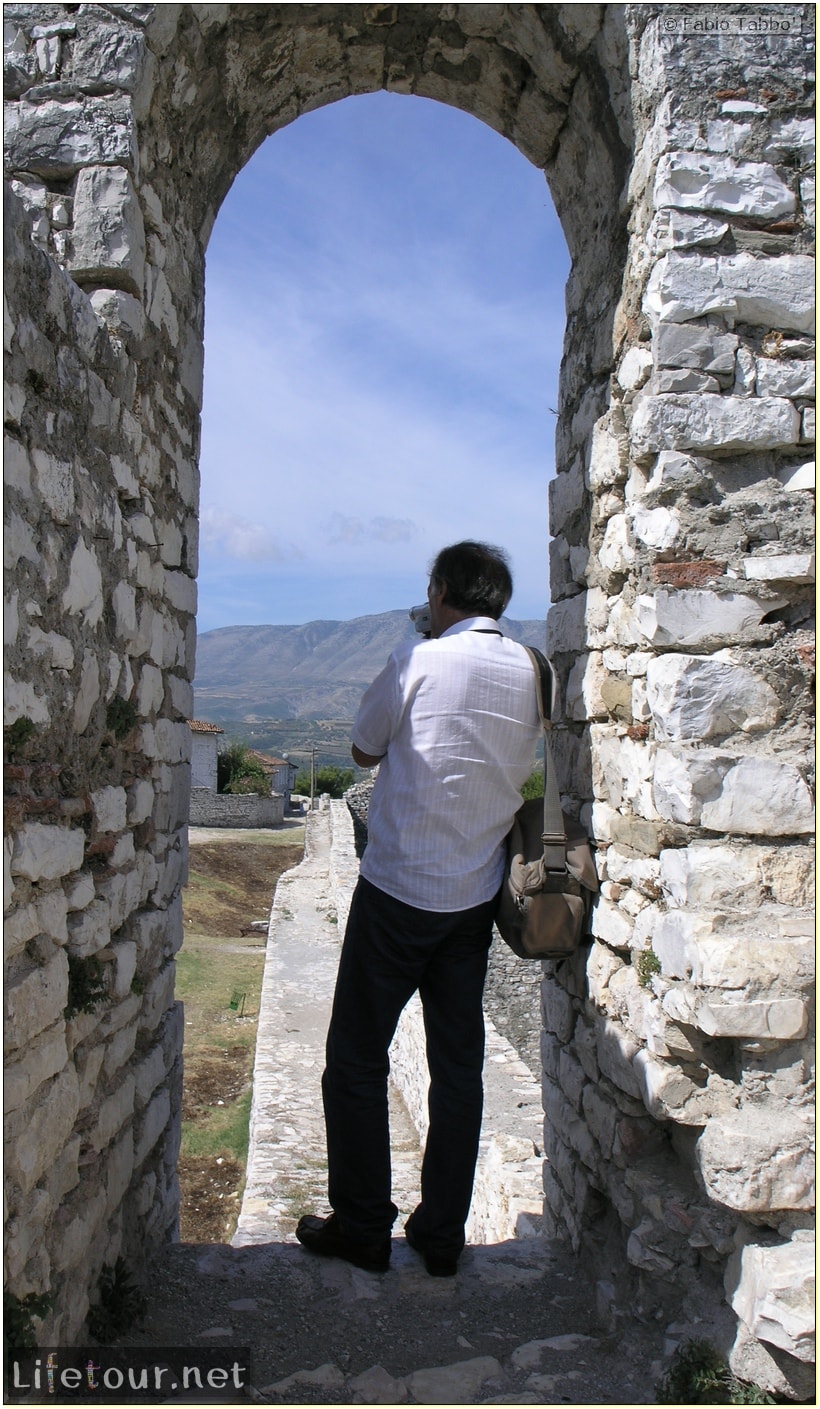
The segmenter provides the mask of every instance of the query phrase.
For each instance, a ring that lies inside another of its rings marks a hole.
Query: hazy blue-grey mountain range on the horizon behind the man
[[[506,635],[544,648],[544,621],[502,619]],[[304,626],[225,626],[196,650],[194,717],[352,720],[390,651],[413,637],[406,612]]]

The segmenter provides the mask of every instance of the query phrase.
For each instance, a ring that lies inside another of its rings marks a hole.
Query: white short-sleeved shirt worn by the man
[[[531,659],[492,617],[397,647],[352,731],[364,754],[385,755],[368,812],[365,879],[424,910],[490,900],[538,737]]]

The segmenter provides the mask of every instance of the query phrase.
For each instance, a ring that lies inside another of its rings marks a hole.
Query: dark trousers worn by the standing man
[[[438,914],[359,879],[342,945],[321,1079],[330,1205],[345,1233],[389,1234],[387,1047],[418,989],[430,1068],[430,1130],[414,1230],[458,1254],[483,1106],[482,993],[496,900]]]

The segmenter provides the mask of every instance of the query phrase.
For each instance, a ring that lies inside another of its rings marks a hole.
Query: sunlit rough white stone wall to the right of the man
[[[589,952],[542,986],[545,1192],[576,1244],[627,1233],[647,1306],[666,1282],[695,1312],[714,1270],[738,1372],[806,1392],[809,35],[800,7],[766,10],[776,45],[720,15],[734,32],[630,10],[630,249],[592,434],[564,382],[555,751],[602,895]]]

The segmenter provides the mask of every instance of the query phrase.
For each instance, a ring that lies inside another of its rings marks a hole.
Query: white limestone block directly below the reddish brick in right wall
[[[785,606],[782,597],[764,602],[737,592],[709,592],[683,588],[659,589],[654,596],[640,596],[634,614],[644,640],[654,645],[702,645],[730,638],[759,626],[769,612]]]

